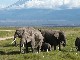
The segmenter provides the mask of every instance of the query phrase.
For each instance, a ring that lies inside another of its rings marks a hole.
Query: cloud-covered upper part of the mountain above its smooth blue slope
[[[6,8],[74,9],[80,8],[80,0],[19,0]]]

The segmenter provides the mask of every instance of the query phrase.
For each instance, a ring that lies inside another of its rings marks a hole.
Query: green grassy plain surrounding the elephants
[[[6,30],[7,28],[0,29]],[[15,28],[10,29],[15,30]],[[62,47],[62,51],[59,51],[57,49],[56,51],[40,52],[39,54],[31,52],[21,54],[19,52],[19,45],[18,47],[14,47],[11,44],[13,39],[8,39],[5,41],[0,41],[0,60],[80,60],[80,52],[76,51],[74,45],[76,37],[80,37],[80,27],[54,27],[47,29],[64,31],[67,39],[67,45],[66,47]],[[6,35],[8,33],[9,35]],[[0,37],[12,36],[13,34],[14,32],[0,31]],[[17,40],[17,42],[19,43],[19,39]]]

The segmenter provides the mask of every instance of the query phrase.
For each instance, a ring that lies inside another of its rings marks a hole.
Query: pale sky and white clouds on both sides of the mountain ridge
[[[0,0],[0,8],[7,7],[14,4],[19,0]],[[64,5],[68,8],[80,8],[80,0],[64,0]],[[17,8],[21,7],[30,7],[30,8],[55,8],[63,6],[63,0],[29,0],[28,2],[19,5]]]

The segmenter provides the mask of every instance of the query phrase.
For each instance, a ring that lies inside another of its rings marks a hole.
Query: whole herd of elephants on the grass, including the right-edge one
[[[61,45],[66,46],[66,38],[63,31],[54,31],[54,30],[44,30],[44,29],[35,29],[33,27],[23,27],[18,28],[14,34],[14,40],[12,43],[17,45],[16,38],[20,38],[20,52],[28,53],[29,48],[31,51],[51,51],[56,50],[56,47],[59,46],[61,51]],[[80,50],[80,38],[76,38],[75,46],[77,50]]]

